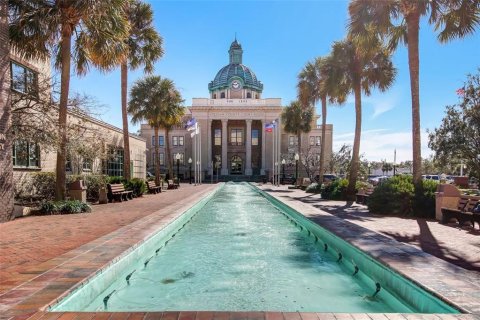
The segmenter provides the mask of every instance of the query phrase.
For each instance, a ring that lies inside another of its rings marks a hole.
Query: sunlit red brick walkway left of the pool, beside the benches
[[[0,294],[41,273],[39,264],[212,188],[185,184],[128,202],[95,205],[90,214],[30,216],[0,224]]]

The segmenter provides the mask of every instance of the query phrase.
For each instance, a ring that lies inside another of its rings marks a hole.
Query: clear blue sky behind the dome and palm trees
[[[348,1],[159,1],[150,0],[155,26],[164,39],[164,57],[155,74],[176,83],[185,105],[193,97],[208,97],[208,83],[228,64],[228,48],[235,33],[242,44],[243,63],[264,84],[263,97],[282,98],[286,105],[296,98],[297,74],[316,56],[326,55],[333,41],[346,34]],[[480,31],[465,39],[440,44],[426,24],[420,31],[420,104],[422,130],[438,127],[445,106],[458,102],[455,91],[466,74],[480,67]],[[361,153],[369,160],[411,159],[411,101],[407,52],[400,47],[393,56],[398,75],[385,93],[363,98]],[[129,85],[143,76],[130,72]],[[121,126],[120,73],[92,70],[73,77],[73,91],[94,96],[105,105],[101,118]],[[320,113],[320,112],[319,112]],[[334,150],[353,143],[353,98],[330,106],[327,122],[334,127]],[[135,132],[138,126],[131,125]],[[422,136],[428,156],[427,135]]]

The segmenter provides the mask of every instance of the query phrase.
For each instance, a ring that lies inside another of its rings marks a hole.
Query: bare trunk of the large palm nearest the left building
[[[59,146],[57,150],[57,167],[56,167],[56,186],[55,199],[65,200],[66,193],[66,155],[67,155],[67,104],[68,91],[70,88],[70,50],[72,44],[71,26],[62,26],[62,43],[60,48],[60,56],[62,61],[61,70],[61,86],[60,86],[60,104],[58,116],[58,138]]]

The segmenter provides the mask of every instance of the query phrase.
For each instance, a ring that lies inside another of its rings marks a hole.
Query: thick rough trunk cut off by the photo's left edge
[[[13,164],[10,136],[10,59],[7,1],[0,4],[0,222],[13,219]],[[5,13],[5,14],[3,14]]]

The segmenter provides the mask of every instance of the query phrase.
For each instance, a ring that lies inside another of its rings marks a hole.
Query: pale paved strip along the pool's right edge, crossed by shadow
[[[344,239],[441,300],[480,319],[480,275],[309,204],[260,187],[275,199]]]

